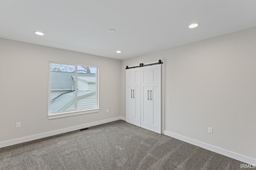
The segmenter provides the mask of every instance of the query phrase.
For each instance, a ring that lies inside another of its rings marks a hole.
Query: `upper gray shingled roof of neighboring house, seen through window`
[[[75,89],[74,72],[51,71],[51,90]],[[96,82],[95,73],[78,73],[78,79]]]

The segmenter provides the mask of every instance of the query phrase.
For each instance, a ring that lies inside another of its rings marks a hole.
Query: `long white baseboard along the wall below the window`
[[[112,122],[112,121],[116,121],[116,120],[120,120],[120,119],[122,119],[122,117],[114,117],[114,118],[105,119],[105,120],[102,120],[102,121],[86,123],[84,125],[78,125],[78,126],[74,126],[74,127],[68,127],[68,128],[65,128],[65,129],[59,129],[59,130],[56,130],[56,131],[50,131],[50,132],[40,133],[40,134],[37,134],[37,135],[28,136],[28,137],[22,137],[22,138],[19,138],[19,139],[13,139],[13,140],[10,140],[10,141],[4,141],[4,142],[0,142],[0,148],[7,147],[7,146],[10,146],[10,145],[15,145],[15,144],[18,144],[18,143],[33,141],[35,139],[41,139],[41,138],[44,138],[44,137],[58,135],[58,134],[61,134],[61,133],[75,131],[75,130],[83,129],[83,128],[86,128],[86,127],[96,126],[96,125],[100,125],[100,124],[104,124],[104,123],[108,123],[108,122]]]

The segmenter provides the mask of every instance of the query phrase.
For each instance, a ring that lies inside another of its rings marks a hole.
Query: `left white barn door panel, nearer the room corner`
[[[126,122],[140,127],[140,68],[126,70]]]

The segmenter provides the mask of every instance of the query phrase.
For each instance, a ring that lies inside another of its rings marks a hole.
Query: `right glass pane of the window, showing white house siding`
[[[77,66],[77,109],[92,109],[97,107],[96,80],[97,68]]]

